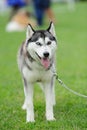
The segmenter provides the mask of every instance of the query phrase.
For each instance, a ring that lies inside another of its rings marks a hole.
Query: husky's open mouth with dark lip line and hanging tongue
[[[40,59],[40,63],[41,65],[45,68],[48,69],[51,65],[51,60],[49,58],[45,58],[45,57],[40,57],[37,53],[36,55],[38,56],[38,58]]]

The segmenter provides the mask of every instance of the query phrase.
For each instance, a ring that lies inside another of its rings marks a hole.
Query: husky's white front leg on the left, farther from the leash
[[[33,107],[33,84],[28,83],[27,80],[24,79],[24,94],[25,94],[25,102],[23,105],[23,109],[26,109],[26,121],[34,122],[34,107]]]

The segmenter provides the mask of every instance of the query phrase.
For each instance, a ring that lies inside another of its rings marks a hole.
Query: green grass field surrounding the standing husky
[[[58,39],[57,72],[73,90],[87,95],[87,3],[75,11],[53,5]],[[7,33],[7,15],[0,16],[0,130],[87,130],[87,99],[77,97],[56,82],[56,121],[45,120],[45,101],[35,86],[35,123],[26,124],[23,85],[16,55],[25,32]],[[48,23],[42,28],[46,28]]]

